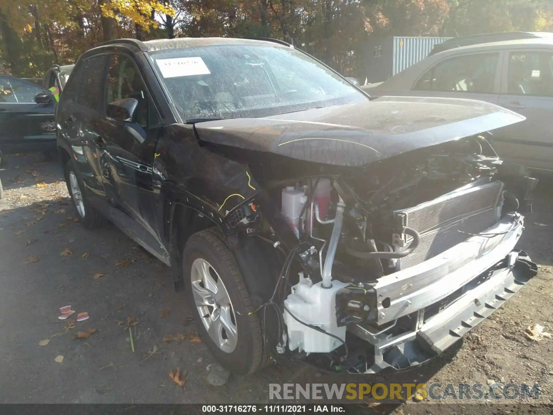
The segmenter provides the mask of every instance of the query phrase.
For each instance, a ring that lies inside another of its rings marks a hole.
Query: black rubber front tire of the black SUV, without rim
[[[202,323],[202,316],[195,305],[192,292],[192,263],[202,258],[211,264],[218,277],[222,279],[234,309],[234,319],[237,328],[237,344],[232,352],[219,348],[211,339]],[[242,275],[228,250],[222,235],[216,229],[197,232],[186,242],[182,253],[182,275],[184,277],[187,296],[194,309],[195,322],[204,343],[210,349],[217,361],[227,370],[247,375],[267,365],[268,357],[263,347],[261,324],[249,297]]]

